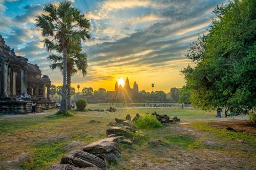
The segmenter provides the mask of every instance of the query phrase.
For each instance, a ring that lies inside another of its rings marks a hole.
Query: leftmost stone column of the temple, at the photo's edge
[[[2,62],[0,98],[7,98],[8,63]]]

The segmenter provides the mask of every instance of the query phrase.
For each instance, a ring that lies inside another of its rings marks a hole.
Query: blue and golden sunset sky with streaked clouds
[[[59,70],[52,71],[34,18],[49,0],[0,0],[0,35],[17,55],[38,64],[52,84],[62,85]],[[91,39],[83,43],[88,54],[88,75],[72,77],[72,86],[114,90],[115,82],[126,77],[139,90],[168,92],[182,87],[180,70],[188,64],[185,56],[198,35],[207,34],[212,12],[224,0],[73,0],[90,19]],[[76,89],[77,90],[77,89]]]

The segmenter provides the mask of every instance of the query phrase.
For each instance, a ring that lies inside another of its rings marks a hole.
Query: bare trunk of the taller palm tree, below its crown
[[[63,50],[63,86],[61,90],[61,104],[59,108],[60,112],[66,113],[68,111],[67,106],[67,48]]]

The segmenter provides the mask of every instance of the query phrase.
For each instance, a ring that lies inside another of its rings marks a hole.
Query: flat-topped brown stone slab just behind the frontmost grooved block
[[[108,138],[106,138],[108,139]],[[83,151],[89,152],[91,154],[102,154],[108,153],[113,150],[118,150],[118,143],[114,141],[96,141],[86,145]]]

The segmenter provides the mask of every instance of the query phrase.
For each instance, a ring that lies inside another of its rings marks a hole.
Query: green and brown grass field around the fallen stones
[[[89,104],[87,108],[107,109],[112,104]],[[49,169],[68,151],[71,141],[86,143],[105,137],[106,129],[116,117],[132,117],[152,113],[178,116],[180,124],[170,124],[154,130],[140,130],[145,138],[132,148],[121,147],[123,159],[111,169],[254,169],[255,135],[230,132],[209,127],[208,123],[225,118],[215,118],[214,112],[193,108],[143,108],[117,104],[116,112],[77,112],[75,116],[38,114],[26,116],[0,116],[0,169],[7,169],[20,154],[33,155],[33,160],[19,168]],[[245,117],[246,116],[242,116]],[[100,123],[89,123],[90,120]],[[148,148],[147,141],[161,139],[160,148]],[[246,143],[240,143],[242,139]],[[228,162],[228,163],[227,163]],[[146,167],[143,167],[142,166]]]

